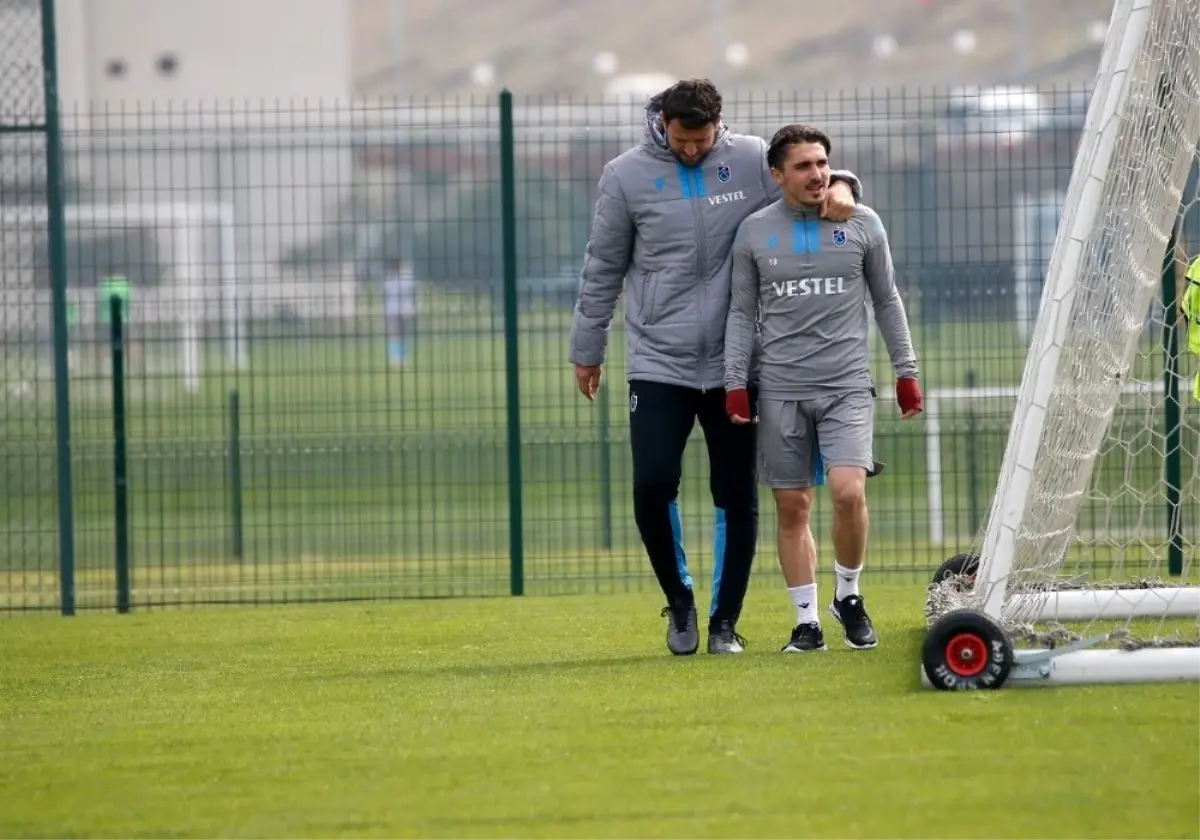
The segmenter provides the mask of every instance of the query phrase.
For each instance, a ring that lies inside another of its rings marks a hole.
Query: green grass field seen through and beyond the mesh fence
[[[278,601],[296,598],[445,596],[508,589],[511,499],[500,320],[468,294],[439,295],[410,365],[389,370],[371,320],[256,325],[248,370],[224,364],[214,337],[200,391],[179,377],[175,336],[148,341],[128,378],[130,539],[139,602]],[[632,524],[624,332],[611,338],[608,388],[598,404],[575,391],[565,362],[568,317],[522,314],[523,540],[529,592],[606,592],[646,580]],[[1008,324],[918,326],[926,390],[1015,385],[1024,347]],[[52,386],[36,348],[6,350],[8,380],[31,388],[0,418],[0,608],[58,601],[58,514]],[[1154,378],[1153,364],[1139,371]],[[881,383],[890,374],[876,347]],[[73,382],[72,469],[79,602],[113,602],[114,491],[110,383],[84,367]],[[229,395],[240,401],[230,440]],[[991,500],[1008,398],[946,403],[940,415],[946,542],[930,544],[928,418],[900,422],[881,402],[870,485],[872,563],[924,575],[966,548]],[[1133,428],[1147,424],[1130,413]],[[1157,420],[1151,419],[1151,425]],[[1114,488],[1159,484],[1156,430],[1099,470]],[[1189,451],[1200,451],[1189,438]],[[240,456],[234,475],[230,451]],[[241,506],[236,506],[240,490]],[[1085,527],[1165,521],[1158,502],[1115,494]],[[680,490],[694,569],[708,574],[713,511],[697,428]],[[774,529],[763,493],[764,551]],[[1150,511],[1150,512],[1147,512]],[[240,515],[241,529],[235,523]],[[818,497],[817,523],[828,530]],[[1153,530],[1153,528],[1151,528]],[[234,551],[235,532],[242,552]],[[1165,529],[1164,529],[1165,532]],[[1153,536],[1153,535],[1151,535]],[[1099,558],[1098,563],[1109,563]],[[908,575],[907,580],[916,580]],[[205,583],[209,582],[209,583]]]

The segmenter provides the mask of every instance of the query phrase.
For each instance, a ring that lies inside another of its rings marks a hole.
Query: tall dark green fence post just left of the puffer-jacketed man
[[[504,383],[508,401],[509,588],[524,594],[524,511],[521,490],[521,368],[517,335],[517,191],[512,92],[500,91],[500,217],[504,248]]]

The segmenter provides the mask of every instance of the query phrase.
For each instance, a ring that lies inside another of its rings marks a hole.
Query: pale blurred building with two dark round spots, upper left
[[[352,11],[346,0],[58,0],[68,283],[82,317],[114,270],[138,287],[143,323],[224,317],[234,292],[239,306],[271,310],[312,298],[277,260],[328,223],[330,196],[353,179]],[[0,14],[4,72],[16,73],[20,50],[40,77],[37,0],[4,0]],[[0,142],[10,208],[0,287],[32,292],[4,307],[5,322],[44,330],[44,222],[11,223],[42,200],[42,138]],[[311,306],[353,308],[354,292],[349,283]]]

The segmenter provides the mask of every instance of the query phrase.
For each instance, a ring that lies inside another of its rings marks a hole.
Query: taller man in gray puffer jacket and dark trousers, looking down
[[[736,626],[758,539],[758,496],[754,427],[725,413],[731,247],[742,221],[776,200],[779,187],[766,140],[725,127],[721,95],[707,79],[653,97],[646,124],[642,143],[600,176],[570,361],[580,390],[594,398],[624,288],[634,516],[667,599],[667,647],[677,655],[700,647],[676,499],[684,448],[700,420],[716,508],[708,652],[740,653]],[[823,215],[845,221],[858,180],[835,172],[832,181]]]

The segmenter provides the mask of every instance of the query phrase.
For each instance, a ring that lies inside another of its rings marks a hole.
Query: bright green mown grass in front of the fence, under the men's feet
[[[778,588],[740,658],[650,594],[12,622],[0,836],[1195,835],[1194,685],[932,692],[864,586],[881,647],[804,656]]]

